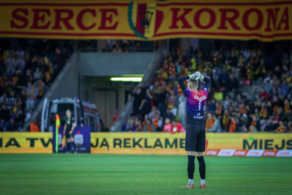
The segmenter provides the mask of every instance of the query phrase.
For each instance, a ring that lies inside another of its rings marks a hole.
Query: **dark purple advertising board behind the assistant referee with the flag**
[[[63,130],[64,126],[60,126],[59,134],[58,134],[58,152],[67,152],[68,146],[67,146],[67,140],[64,139],[63,136]],[[80,127],[77,126],[74,129],[73,135],[74,135],[74,143],[76,146],[77,153],[90,153],[90,132],[91,127]],[[53,127],[53,153],[56,152],[55,150],[55,143],[56,143],[56,130],[55,127]],[[72,143],[70,143],[70,151],[74,152],[74,148]]]

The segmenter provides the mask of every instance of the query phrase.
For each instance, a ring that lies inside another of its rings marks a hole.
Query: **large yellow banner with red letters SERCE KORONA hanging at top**
[[[0,0],[0,37],[292,39],[292,1]]]

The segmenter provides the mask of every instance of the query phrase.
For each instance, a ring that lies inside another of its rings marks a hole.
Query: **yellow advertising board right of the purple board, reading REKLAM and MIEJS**
[[[291,150],[292,134],[206,133],[210,149]],[[91,133],[91,153],[186,154],[185,133]]]

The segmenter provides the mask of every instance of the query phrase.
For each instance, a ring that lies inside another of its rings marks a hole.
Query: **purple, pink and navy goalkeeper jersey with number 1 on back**
[[[187,97],[187,122],[204,124],[204,104],[208,97],[208,88],[203,87],[199,93],[185,88],[183,94]]]

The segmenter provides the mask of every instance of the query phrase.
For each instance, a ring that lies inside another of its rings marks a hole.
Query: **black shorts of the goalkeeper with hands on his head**
[[[204,152],[206,148],[205,124],[187,123],[185,150]]]

